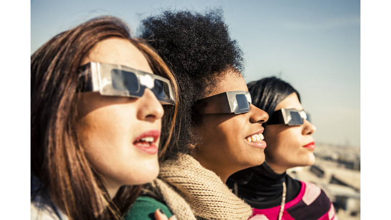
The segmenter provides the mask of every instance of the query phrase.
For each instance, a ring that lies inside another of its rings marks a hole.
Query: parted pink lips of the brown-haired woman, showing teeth
[[[134,139],[133,146],[145,153],[156,154],[158,151],[156,142],[159,139],[159,136],[159,130],[146,131]]]

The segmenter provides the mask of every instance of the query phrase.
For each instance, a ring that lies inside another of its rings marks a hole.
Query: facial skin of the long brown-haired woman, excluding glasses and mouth
[[[83,64],[91,61],[152,73],[143,54],[130,41],[120,38],[96,44]],[[122,185],[143,184],[158,175],[157,154],[148,154],[133,145],[138,135],[161,129],[164,111],[152,91],[146,89],[141,98],[80,93],[77,111],[78,141],[93,169],[103,177],[111,198]]]

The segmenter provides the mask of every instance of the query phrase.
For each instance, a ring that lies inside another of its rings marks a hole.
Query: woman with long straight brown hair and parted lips
[[[99,17],[31,56],[32,219],[120,219],[157,176],[177,84],[129,33]]]

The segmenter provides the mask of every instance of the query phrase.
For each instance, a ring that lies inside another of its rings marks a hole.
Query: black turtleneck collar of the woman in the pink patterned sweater
[[[257,169],[256,172],[253,169],[252,173],[247,175],[250,176],[248,181],[235,181],[235,178],[229,178],[227,180],[228,187],[234,189],[236,184],[235,193],[251,207],[257,209],[281,205],[284,181],[287,186],[285,202],[292,201],[297,197],[301,188],[300,181],[292,179],[286,173],[276,174],[266,164],[258,167],[261,169]]]

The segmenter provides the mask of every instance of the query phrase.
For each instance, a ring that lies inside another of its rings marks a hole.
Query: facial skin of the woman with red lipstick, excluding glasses
[[[274,111],[281,108],[303,109],[296,93],[278,103]],[[316,127],[307,120],[300,126],[268,125],[264,136],[268,146],[265,149],[266,161],[270,168],[275,173],[282,174],[289,168],[314,164],[314,149],[303,146],[314,142],[312,134],[315,131]]]

